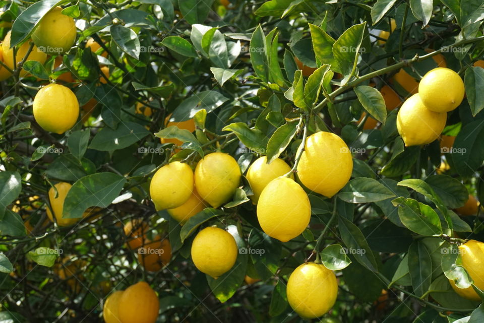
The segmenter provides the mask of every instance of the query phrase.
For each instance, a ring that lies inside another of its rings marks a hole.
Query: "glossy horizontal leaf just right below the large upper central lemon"
[[[350,180],[338,197],[348,203],[369,203],[390,199],[395,195],[376,179],[359,177]]]

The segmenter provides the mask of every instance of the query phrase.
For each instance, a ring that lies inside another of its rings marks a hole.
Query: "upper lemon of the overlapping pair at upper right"
[[[423,76],[418,93],[429,110],[449,112],[464,99],[464,82],[451,69],[436,68]]]

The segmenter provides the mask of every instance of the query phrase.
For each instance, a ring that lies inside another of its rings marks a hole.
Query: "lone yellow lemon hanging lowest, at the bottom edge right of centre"
[[[304,318],[316,318],[327,313],[337,295],[336,276],[322,264],[302,264],[287,281],[287,301]]]

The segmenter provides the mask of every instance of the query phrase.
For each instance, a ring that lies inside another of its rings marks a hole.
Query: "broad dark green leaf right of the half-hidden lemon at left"
[[[108,172],[79,179],[67,193],[63,218],[81,218],[89,207],[107,208],[119,196],[125,183],[125,177]]]

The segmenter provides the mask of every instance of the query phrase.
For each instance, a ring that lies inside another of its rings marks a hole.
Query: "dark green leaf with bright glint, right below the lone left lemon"
[[[123,149],[142,140],[150,133],[139,123],[119,123],[115,130],[102,128],[91,141],[89,148],[100,151]]]

